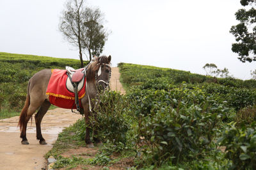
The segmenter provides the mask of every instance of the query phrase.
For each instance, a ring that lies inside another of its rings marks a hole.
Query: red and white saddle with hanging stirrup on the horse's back
[[[67,89],[70,92],[74,92],[75,94],[75,103],[77,111],[83,114],[83,109],[79,107],[79,98],[78,92],[83,88],[84,85],[84,68],[74,69],[72,67],[66,66],[68,79],[66,82]],[[73,110],[72,110],[73,111]]]

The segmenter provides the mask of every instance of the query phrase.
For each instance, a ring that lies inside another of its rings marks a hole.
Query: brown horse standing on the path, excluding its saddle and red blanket
[[[89,123],[90,114],[97,101],[97,94],[108,87],[109,78],[111,75],[110,67],[111,56],[109,57],[95,57],[92,62],[86,67],[86,90],[85,96],[81,99],[81,106],[84,110],[84,120],[86,124]],[[23,145],[28,145],[28,139],[26,138],[27,124],[31,116],[35,113],[36,122],[36,139],[39,140],[41,145],[47,144],[41,133],[41,122],[45,113],[51,106],[49,99],[46,95],[47,85],[51,78],[51,69],[44,69],[34,74],[28,82],[28,94],[26,97],[26,103],[20,113],[19,126],[20,126],[20,138]],[[92,104],[91,104],[92,101]],[[91,106],[92,105],[92,106]],[[93,113],[94,114],[94,113]],[[90,140],[90,127],[86,127],[85,142],[88,147],[93,147],[93,143]],[[97,134],[97,132],[95,132]],[[100,140],[93,138],[95,143],[100,143]]]

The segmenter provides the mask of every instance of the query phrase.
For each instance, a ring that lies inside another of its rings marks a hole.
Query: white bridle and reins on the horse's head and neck
[[[94,61],[95,61],[95,60],[91,60],[91,62],[90,62],[86,67],[84,67],[84,75],[85,75],[85,76],[86,76],[86,73],[87,73],[88,66],[90,66],[90,64],[91,64],[92,62],[94,62]],[[97,65],[99,65],[99,64],[100,64],[100,63],[98,63]],[[102,65],[108,66],[108,67],[110,68],[108,82],[106,82],[106,81],[104,81],[104,80],[99,80],[99,81],[97,81],[97,75],[100,76],[100,74],[101,74],[101,69],[102,69]],[[100,103],[100,96],[99,96],[99,90],[98,90],[99,82],[103,82],[103,83],[106,85],[106,88],[107,88],[107,87],[109,87],[109,81],[110,81],[110,78],[111,78],[111,66],[110,66],[110,64],[103,63],[102,65],[100,65],[99,70],[96,71],[96,73],[95,73],[95,81],[97,82],[97,83],[96,83],[97,95],[96,95],[95,106],[93,107],[93,109],[94,109],[94,108],[97,108],[97,105]],[[90,112],[92,112],[93,109],[92,109],[92,104],[91,104],[91,101],[90,101],[90,96],[89,96],[89,93],[88,93],[87,81],[86,81],[86,85],[85,85],[85,86],[86,86],[86,93],[87,93],[87,96],[88,96],[89,110],[90,110]],[[106,88],[105,88],[105,89],[106,89]],[[104,89],[104,90],[105,90],[105,89]]]

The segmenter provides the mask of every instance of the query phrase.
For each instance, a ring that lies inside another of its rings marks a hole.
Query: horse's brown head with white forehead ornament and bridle
[[[111,55],[108,57],[94,57],[92,61],[91,67],[93,67],[93,72],[91,74],[95,75],[97,89],[101,92],[109,85],[109,79],[111,76]]]

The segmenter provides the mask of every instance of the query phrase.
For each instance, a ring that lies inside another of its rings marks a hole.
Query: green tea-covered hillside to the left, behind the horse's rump
[[[0,52],[0,117],[21,110],[33,74],[45,68],[65,69],[65,66],[79,68],[80,61]]]

